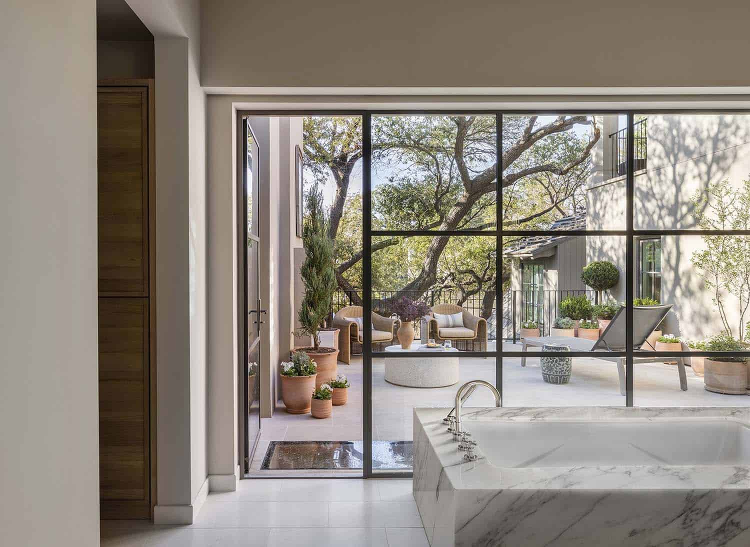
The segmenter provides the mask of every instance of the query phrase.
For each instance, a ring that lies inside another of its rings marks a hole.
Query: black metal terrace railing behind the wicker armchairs
[[[399,293],[398,290],[374,290],[373,309],[380,314],[390,315],[388,303]],[[568,296],[586,295],[596,302],[594,290],[504,290],[502,292],[502,317],[498,321],[496,293],[493,290],[480,290],[470,296],[463,296],[460,290],[428,290],[425,293],[404,293],[404,296],[422,300],[429,306],[437,304],[457,304],[466,311],[487,320],[487,335],[495,340],[499,335],[503,340],[517,341],[521,323],[533,320],[539,323],[541,335],[549,335],[550,327],[559,316],[559,305]],[[331,315],[341,308],[358,305],[362,302],[362,290],[337,290],[334,293]]]

